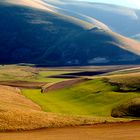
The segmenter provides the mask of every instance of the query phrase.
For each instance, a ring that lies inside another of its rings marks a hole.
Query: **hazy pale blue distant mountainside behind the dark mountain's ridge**
[[[85,1],[44,0],[44,2],[95,18],[113,31],[127,37],[140,33],[140,10]]]

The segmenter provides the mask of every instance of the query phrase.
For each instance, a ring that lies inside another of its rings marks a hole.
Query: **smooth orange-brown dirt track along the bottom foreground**
[[[0,140],[140,140],[140,121],[0,133]]]

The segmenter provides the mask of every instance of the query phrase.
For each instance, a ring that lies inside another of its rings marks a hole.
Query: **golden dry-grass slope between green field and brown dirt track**
[[[0,131],[32,130],[102,122],[129,121],[113,118],[66,116],[46,113],[19,94],[17,88],[0,86]]]

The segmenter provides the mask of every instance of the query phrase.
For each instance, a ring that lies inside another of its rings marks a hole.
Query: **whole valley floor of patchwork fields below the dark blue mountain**
[[[140,66],[1,66],[0,80],[0,140],[140,138]]]

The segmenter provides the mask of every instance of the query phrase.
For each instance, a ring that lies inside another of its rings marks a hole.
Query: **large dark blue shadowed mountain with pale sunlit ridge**
[[[112,32],[94,18],[64,11],[41,0],[1,0],[0,63],[139,63],[138,42]]]

